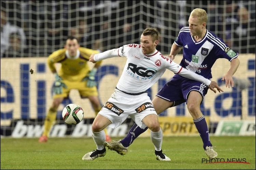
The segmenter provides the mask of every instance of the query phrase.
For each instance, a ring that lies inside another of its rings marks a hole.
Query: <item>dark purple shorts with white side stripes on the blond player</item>
[[[175,74],[156,94],[161,99],[174,102],[173,106],[177,106],[184,102],[187,103],[187,98],[190,91],[198,91],[202,98],[207,94],[209,87],[201,82],[184,78],[179,74]],[[202,103],[202,102],[201,102]],[[173,107],[172,106],[172,107]]]

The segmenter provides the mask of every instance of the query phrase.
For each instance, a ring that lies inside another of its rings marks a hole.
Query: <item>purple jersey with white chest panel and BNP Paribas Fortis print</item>
[[[183,47],[180,65],[207,79],[212,78],[211,68],[218,58],[231,61],[238,57],[238,53],[231,50],[221,38],[208,30],[202,40],[196,42],[190,35],[188,27],[183,27],[174,43]]]

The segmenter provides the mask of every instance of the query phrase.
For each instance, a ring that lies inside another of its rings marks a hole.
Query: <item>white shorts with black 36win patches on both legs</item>
[[[145,129],[146,125],[142,119],[150,114],[157,115],[146,92],[141,95],[127,95],[118,89],[115,89],[98,114],[108,118],[112,122],[109,126],[113,129],[122,124],[128,116],[141,129]]]

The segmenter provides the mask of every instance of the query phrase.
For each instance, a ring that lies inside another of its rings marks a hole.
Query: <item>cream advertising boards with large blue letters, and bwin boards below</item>
[[[181,57],[181,55],[177,55],[174,62],[179,63]],[[209,117],[210,124],[217,124],[221,120],[255,121],[255,54],[240,54],[239,58],[240,66],[233,77],[239,82],[249,80],[250,86],[245,89],[237,87],[226,88],[225,83],[221,79],[228,70],[230,62],[221,59],[217,60],[212,69],[212,80],[218,82],[224,92],[214,94],[213,91],[209,90],[201,105],[201,111],[205,117]],[[49,70],[46,60],[47,58],[45,57],[1,58],[1,136],[38,137],[41,135],[42,120],[45,118],[46,112],[53,100],[52,88],[54,76]],[[125,62],[126,59],[121,57],[110,58],[102,62],[96,74],[101,103],[106,102],[114,91]],[[89,64],[91,67],[93,66],[92,63]],[[33,70],[33,74],[30,73],[30,69]],[[155,94],[173,75],[173,72],[167,70],[161,79],[152,88],[147,90],[151,99],[154,98]],[[80,123],[69,126],[61,121],[62,109],[69,103],[76,103],[85,111],[84,121],[88,126],[88,133],[82,133],[82,135],[90,137],[90,122],[95,117],[94,111],[89,101],[87,99],[81,99],[76,90],[71,90],[70,98],[64,100],[59,106],[56,121],[59,130],[57,131],[55,129],[55,131],[51,132],[51,135],[61,136],[71,134],[72,136],[71,132],[73,132],[76,126],[79,127],[84,124]],[[161,116],[165,118],[162,120]],[[162,128],[167,127],[167,122],[176,122],[177,125],[182,125],[183,122],[189,125],[189,122],[193,122],[185,103],[169,108],[167,111],[161,113],[159,115],[159,121],[163,125]],[[123,136],[128,132],[132,124],[133,121],[128,120],[122,125],[123,129],[120,128],[116,131],[110,130],[110,135]],[[179,127],[177,125],[175,126],[175,123],[171,125],[174,129],[164,132],[165,135],[175,135],[175,128]],[[184,124],[181,126],[183,129],[180,127],[186,133],[181,131],[179,133],[176,132],[176,134],[193,135],[194,126],[191,125],[193,129],[189,131],[190,126],[188,125],[185,130]],[[64,128],[66,131],[63,131],[63,127],[66,127]],[[79,131],[77,130],[77,132]]]

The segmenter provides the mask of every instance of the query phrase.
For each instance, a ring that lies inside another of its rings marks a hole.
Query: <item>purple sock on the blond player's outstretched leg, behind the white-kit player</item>
[[[131,127],[130,131],[120,142],[124,147],[129,147],[134,139],[136,139],[140,134],[145,132],[148,128],[141,129],[136,123]]]

